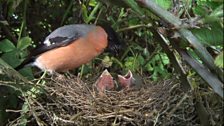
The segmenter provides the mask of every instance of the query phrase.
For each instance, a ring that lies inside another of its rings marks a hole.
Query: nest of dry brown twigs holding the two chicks
[[[74,76],[49,79],[45,96],[33,103],[29,124],[46,125],[196,125],[193,100],[172,79],[140,89],[99,95]],[[40,121],[41,120],[41,121]]]

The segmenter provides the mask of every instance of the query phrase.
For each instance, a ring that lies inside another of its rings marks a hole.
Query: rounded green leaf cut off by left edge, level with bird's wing
[[[10,52],[13,51],[16,47],[14,44],[8,39],[4,39],[0,42],[0,51],[2,52]]]

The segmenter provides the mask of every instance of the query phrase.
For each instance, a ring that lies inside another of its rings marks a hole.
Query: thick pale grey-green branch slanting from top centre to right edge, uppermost
[[[220,79],[223,81],[223,70],[216,67],[214,64],[214,59],[210,53],[203,47],[202,42],[198,40],[191,31],[183,28],[183,23],[177,17],[175,17],[170,12],[159,7],[153,0],[137,0],[151,10],[155,15],[165,20],[166,22],[173,25],[175,28],[178,28],[180,35],[189,42],[194,48],[195,52],[201,58],[201,60],[209,67],[211,71],[215,71]]]

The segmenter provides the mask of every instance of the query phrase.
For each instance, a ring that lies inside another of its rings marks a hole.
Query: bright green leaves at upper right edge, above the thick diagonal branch
[[[223,45],[223,5],[216,2],[200,2],[193,11],[203,17],[199,22],[206,23],[200,29],[193,29],[193,33],[207,46]]]

